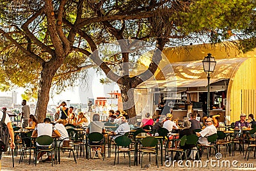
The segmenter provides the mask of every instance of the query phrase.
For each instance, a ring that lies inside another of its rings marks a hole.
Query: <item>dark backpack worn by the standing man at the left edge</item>
[[[6,113],[3,112],[3,118],[0,121],[0,151],[5,152],[9,147],[10,134],[7,125],[4,123]]]

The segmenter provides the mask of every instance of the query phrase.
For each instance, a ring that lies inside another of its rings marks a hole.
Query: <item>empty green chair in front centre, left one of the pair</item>
[[[131,151],[134,151],[134,149],[130,148],[131,144],[131,139],[128,138],[127,136],[123,135],[120,137],[116,137],[115,138],[115,160],[114,160],[114,166],[115,166],[115,162],[116,162],[116,154],[117,156],[117,163],[119,163],[119,153],[120,152],[127,152],[128,156],[129,156],[129,167],[131,167]]]

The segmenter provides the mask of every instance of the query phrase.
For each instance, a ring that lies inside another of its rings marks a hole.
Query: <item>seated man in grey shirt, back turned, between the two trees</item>
[[[106,133],[105,131],[105,125],[104,123],[100,122],[100,115],[99,114],[94,114],[92,117],[92,123],[88,125],[88,128],[86,129],[86,133]],[[90,145],[101,145],[103,142],[89,142]],[[96,154],[98,158],[101,158],[100,154],[100,147],[93,147],[92,148],[92,158],[94,159]]]

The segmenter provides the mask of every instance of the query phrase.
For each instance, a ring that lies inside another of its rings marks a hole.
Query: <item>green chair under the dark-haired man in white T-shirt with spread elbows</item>
[[[38,152],[51,152],[51,159],[52,159],[52,151],[54,151],[54,147],[51,147],[50,145],[53,142],[53,138],[48,135],[41,135],[40,137],[36,138],[36,142],[39,145],[49,146],[49,148],[40,149],[38,146],[36,146],[35,165],[37,161]],[[52,162],[52,166],[53,166],[53,162]]]

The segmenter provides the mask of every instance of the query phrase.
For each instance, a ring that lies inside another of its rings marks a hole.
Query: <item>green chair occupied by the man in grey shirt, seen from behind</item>
[[[105,156],[105,147],[106,147],[106,145],[105,145],[105,142],[104,142],[104,135],[102,134],[102,133],[98,133],[98,132],[94,132],[94,133],[89,133],[88,135],[87,135],[87,137],[88,137],[88,140],[89,140],[89,143],[88,143],[88,147],[90,147],[90,156],[91,156],[91,149],[92,149],[92,147],[100,147],[101,149],[102,149],[102,159],[104,160],[104,156]],[[100,144],[100,145],[92,145],[92,144],[90,144],[90,142],[92,143],[97,143],[97,142],[101,142],[102,141],[102,143],[103,144]],[[89,160],[89,158],[88,158],[88,160]]]

